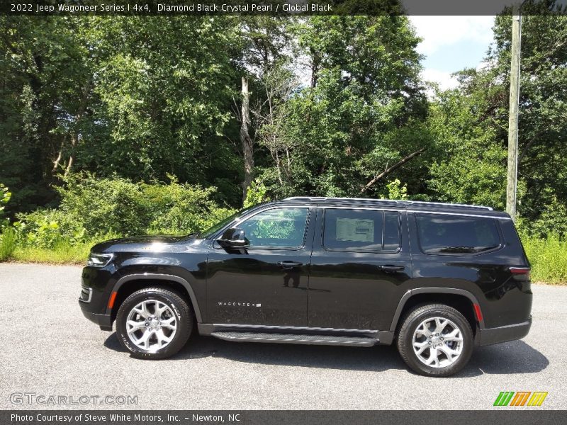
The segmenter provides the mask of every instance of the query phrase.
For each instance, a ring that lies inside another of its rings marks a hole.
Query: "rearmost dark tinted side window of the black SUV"
[[[459,215],[416,214],[421,250],[426,254],[476,254],[500,246],[495,220]]]

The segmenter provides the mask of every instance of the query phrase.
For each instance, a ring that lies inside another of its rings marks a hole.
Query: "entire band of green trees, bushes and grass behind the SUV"
[[[518,228],[567,282],[567,17],[522,14]],[[406,16],[0,16],[0,261],[81,263],[266,198],[505,208],[511,16],[455,89]],[[198,40],[198,41],[196,41]]]

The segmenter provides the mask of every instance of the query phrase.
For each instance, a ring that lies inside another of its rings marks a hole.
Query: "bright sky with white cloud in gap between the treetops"
[[[451,73],[481,66],[493,42],[494,16],[410,16],[417,35],[417,46],[425,55],[422,78],[441,89],[456,87]]]

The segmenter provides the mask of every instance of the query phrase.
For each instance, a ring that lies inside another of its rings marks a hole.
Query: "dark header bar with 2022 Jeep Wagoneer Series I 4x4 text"
[[[1,0],[0,15],[12,16],[309,16],[422,15],[493,16],[511,13],[566,14],[567,0]]]

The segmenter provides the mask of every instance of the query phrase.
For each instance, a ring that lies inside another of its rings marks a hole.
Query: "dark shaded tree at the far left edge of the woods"
[[[53,199],[62,150],[77,141],[90,94],[84,23],[0,17],[0,179],[14,189],[11,211]]]

